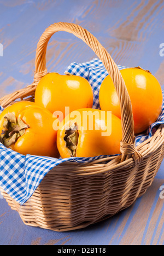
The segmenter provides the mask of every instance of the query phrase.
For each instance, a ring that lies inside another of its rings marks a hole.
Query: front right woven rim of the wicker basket
[[[155,142],[155,143],[154,143]],[[160,127],[156,130],[154,135],[148,139],[146,139],[144,142],[140,143],[137,146],[137,150],[142,153],[142,160],[149,155],[153,154],[157,149],[161,147],[161,145],[164,144],[164,125],[160,125]],[[112,156],[112,160],[108,161],[107,164],[101,164],[103,161],[107,161],[107,158],[102,158],[98,159],[95,161],[91,161],[89,163],[74,163],[74,162],[63,162],[60,165],[55,166],[52,168],[51,171],[55,171],[56,168],[60,168],[60,172],[68,172],[69,174],[77,174],[79,176],[89,176],[93,174],[100,174],[100,173],[105,173],[109,171],[114,171],[117,170],[118,168],[126,168],[127,166],[132,166],[135,167],[136,163],[133,160],[133,158],[129,158],[124,160],[123,162],[120,162],[120,155]],[[110,157],[109,157],[110,158]],[[97,171],[90,171],[90,167],[92,168],[94,165],[99,165],[97,168],[102,169],[102,170],[97,170]],[[140,161],[137,165],[142,164],[142,161]],[[62,166],[63,165],[63,166]],[[73,167],[74,166],[74,170]],[[88,167],[88,168],[87,168]],[[79,168],[79,170],[78,170]],[[88,169],[88,170],[87,170]],[[83,170],[83,171],[81,171]],[[87,170],[87,171],[86,171]],[[55,171],[56,172],[56,171]],[[45,176],[46,177],[46,176]],[[45,178],[44,177],[44,178]]]

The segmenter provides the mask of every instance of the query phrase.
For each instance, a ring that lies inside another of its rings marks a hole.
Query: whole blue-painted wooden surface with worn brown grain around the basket
[[[163,0],[0,0],[1,97],[33,82],[39,37],[54,22],[85,27],[127,67],[149,69],[164,85]],[[2,57],[3,55],[3,57]],[[49,72],[96,57],[78,38],[60,32],[48,45]],[[163,245],[164,161],[147,193],[113,218],[71,232],[26,226],[0,200],[0,245]]]

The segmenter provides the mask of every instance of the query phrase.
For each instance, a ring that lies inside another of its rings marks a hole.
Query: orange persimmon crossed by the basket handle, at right
[[[142,133],[160,115],[163,100],[161,86],[153,74],[140,67],[126,68],[120,72],[132,103],[134,133]],[[110,75],[101,84],[99,104],[102,110],[110,110],[121,118],[119,98]]]

